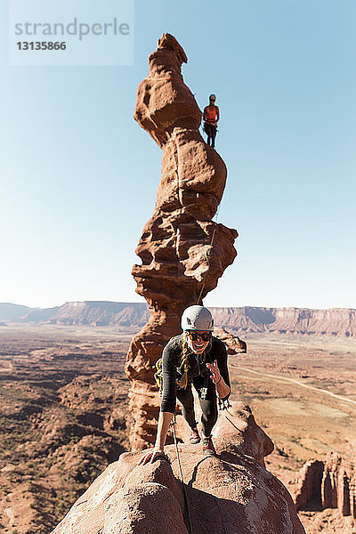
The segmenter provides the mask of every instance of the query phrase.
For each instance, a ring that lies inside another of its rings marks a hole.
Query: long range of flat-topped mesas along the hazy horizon
[[[272,332],[305,336],[356,336],[356,310],[349,308],[212,307],[217,326],[244,336]],[[146,303],[69,302],[53,308],[0,303],[0,322],[142,328],[150,317]]]

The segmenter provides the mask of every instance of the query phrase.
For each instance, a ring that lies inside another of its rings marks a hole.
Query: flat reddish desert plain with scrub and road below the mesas
[[[8,325],[0,330],[0,531],[49,534],[128,449],[130,328]],[[356,449],[352,337],[248,333],[229,357],[231,402],[247,402],[275,444],[271,473],[292,493],[304,462]],[[224,417],[221,412],[220,417]],[[303,510],[311,534],[347,528],[336,510]],[[348,523],[350,522],[350,523]]]

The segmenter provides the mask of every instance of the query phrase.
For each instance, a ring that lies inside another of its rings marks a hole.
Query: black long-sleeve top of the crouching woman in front
[[[174,413],[176,402],[176,381],[182,377],[181,363],[182,363],[182,340],[183,335],[173,337],[163,350],[162,356],[162,370],[163,370],[163,396],[161,402],[161,411]],[[228,370],[228,354],[226,347],[220,339],[212,336],[211,349],[198,356],[195,352],[190,351],[189,354],[189,370],[188,379],[195,376],[210,376],[211,373],[206,367],[206,363],[214,363],[217,360],[217,365],[225,384],[230,387],[230,378]],[[209,378],[209,380],[211,380]],[[230,396],[226,395],[223,400]]]

